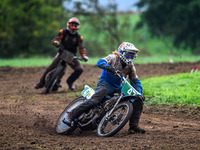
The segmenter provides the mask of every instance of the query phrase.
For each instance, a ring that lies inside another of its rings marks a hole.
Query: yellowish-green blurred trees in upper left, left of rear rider
[[[63,0],[0,2],[0,57],[55,53],[51,39],[66,16]]]

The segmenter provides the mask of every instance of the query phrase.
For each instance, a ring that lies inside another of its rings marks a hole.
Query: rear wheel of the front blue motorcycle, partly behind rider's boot
[[[84,97],[79,97],[75,99],[73,102],[71,102],[65,110],[62,112],[60,117],[58,118],[57,124],[56,124],[56,132],[59,134],[69,134],[72,131],[76,129],[76,127],[70,127],[67,124],[63,122],[64,118],[67,117],[67,112],[72,111],[72,109],[76,108],[78,105],[82,104],[84,102],[85,98]]]

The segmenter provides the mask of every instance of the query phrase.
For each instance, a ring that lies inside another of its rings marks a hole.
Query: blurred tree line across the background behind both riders
[[[65,8],[63,3],[73,3]],[[70,17],[78,16],[90,56],[116,49],[134,30],[147,26],[152,36],[171,37],[174,46],[199,53],[200,1],[140,0],[141,20],[135,28],[130,15],[119,15],[117,4],[102,7],[98,0],[3,0],[0,2],[0,58],[53,56],[50,44]],[[109,49],[109,50],[108,50]]]

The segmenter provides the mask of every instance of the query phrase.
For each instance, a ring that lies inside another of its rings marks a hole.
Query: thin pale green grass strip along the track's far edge
[[[200,61],[200,56],[174,56],[171,57],[174,62],[197,62]],[[88,62],[81,62],[82,64],[96,65],[100,58],[90,58]],[[0,59],[0,66],[11,67],[33,67],[33,66],[48,66],[53,61],[53,58],[15,58],[15,59]],[[138,56],[134,63],[146,64],[146,63],[162,63],[169,62],[169,57],[162,56]]]

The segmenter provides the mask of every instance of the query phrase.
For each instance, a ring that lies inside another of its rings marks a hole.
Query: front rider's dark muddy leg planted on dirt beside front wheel
[[[139,119],[143,111],[144,100],[145,100],[145,97],[143,96],[142,99],[138,98],[133,103],[133,114],[129,120],[129,133],[145,133],[146,132],[146,130],[139,127]]]

